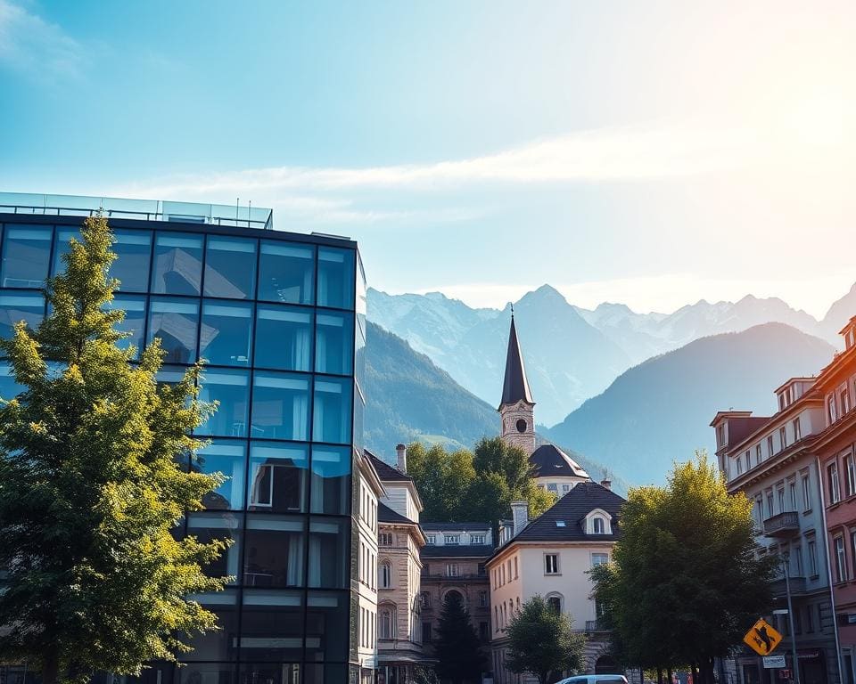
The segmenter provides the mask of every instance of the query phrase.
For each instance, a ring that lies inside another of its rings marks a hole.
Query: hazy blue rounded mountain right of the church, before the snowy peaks
[[[630,482],[657,482],[672,460],[714,451],[709,423],[733,407],[771,415],[773,389],[819,372],[835,348],[783,323],[697,339],[631,368],[547,430]]]

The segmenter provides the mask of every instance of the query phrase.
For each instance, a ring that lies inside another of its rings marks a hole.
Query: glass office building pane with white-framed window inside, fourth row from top
[[[309,449],[301,444],[253,442],[247,509],[306,512]]]

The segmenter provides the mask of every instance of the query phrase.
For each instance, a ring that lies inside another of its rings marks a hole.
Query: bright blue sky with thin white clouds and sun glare
[[[0,0],[0,189],[242,203],[369,281],[671,310],[856,281],[856,5]]]

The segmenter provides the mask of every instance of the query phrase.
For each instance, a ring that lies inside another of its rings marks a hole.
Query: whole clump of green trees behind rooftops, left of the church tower
[[[531,517],[556,502],[555,494],[535,485],[523,450],[499,437],[481,439],[474,452],[447,452],[439,444],[410,444],[407,474],[419,490],[425,522],[490,521],[496,525],[511,515],[512,501],[529,501]]]

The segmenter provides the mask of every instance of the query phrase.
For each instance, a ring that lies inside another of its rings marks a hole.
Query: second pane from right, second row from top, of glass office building
[[[259,305],[256,368],[312,370],[312,313],[290,306]]]

